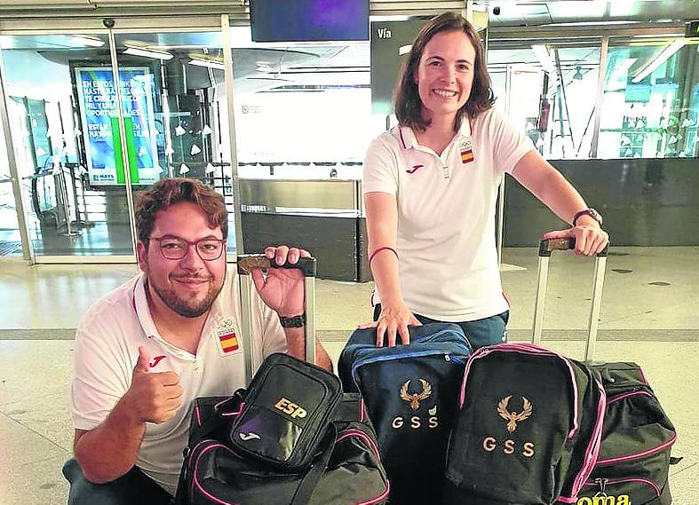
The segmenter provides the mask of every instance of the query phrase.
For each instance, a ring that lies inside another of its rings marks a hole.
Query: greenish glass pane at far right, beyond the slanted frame
[[[699,66],[694,42],[612,39],[601,108],[600,158],[699,155]]]

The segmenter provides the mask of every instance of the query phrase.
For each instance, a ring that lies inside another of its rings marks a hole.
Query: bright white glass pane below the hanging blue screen
[[[242,177],[361,178],[385,130],[371,115],[369,43],[253,43],[231,28]]]

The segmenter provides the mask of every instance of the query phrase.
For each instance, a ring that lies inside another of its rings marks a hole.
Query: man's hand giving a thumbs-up
[[[131,375],[131,387],[120,403],[131,410],[137,422],[167,422],[181,405],[182,386],[174,372],[150,372],[150,355],[146,346],[139,347],[139,359]]]

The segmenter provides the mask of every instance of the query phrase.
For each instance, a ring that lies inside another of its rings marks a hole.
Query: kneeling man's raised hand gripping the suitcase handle
[[[310,257],[304,249],[288,246],[268,247],[265,256],[274,264],[297,264],[299,257]],[[268,268],[263,274],[252,271],[252,281],[262,301],[280,316],[293,317],[304,313],[304,274],[298,268]]]

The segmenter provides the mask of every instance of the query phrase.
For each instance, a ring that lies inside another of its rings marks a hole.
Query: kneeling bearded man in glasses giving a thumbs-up
[[[245,386],[221,195],[196,180],[163,179],[139,194],[136,227],[142,273],[92,305],[77,328],[69,398],[75,460],[63,468],[70,505],[170,503],[192,401]],[[277,264],[308,256],[286,246],[265,254]],[[304,312],[302,272],[258,270],[252,279],[254,361],[278,351],[303,359],[304,328],[280,322]],[[330,370],[320,344],[316,353]]]

